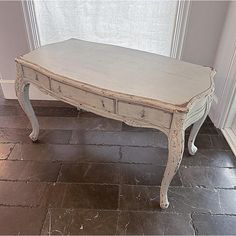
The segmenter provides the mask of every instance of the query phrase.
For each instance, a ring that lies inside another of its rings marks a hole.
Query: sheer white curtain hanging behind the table
[[[68,38],[170,56],[178,1],[34,1],[41,45]]]

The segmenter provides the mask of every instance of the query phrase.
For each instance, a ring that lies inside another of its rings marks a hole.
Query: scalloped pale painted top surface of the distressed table
[[[213,86],[209,67],[78,39],[43,46],[20,60],[73,82],[182,108]]]

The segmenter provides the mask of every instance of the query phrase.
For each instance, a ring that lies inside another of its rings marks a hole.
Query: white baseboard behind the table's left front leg
[[[17,99],[15,93],[15,80],[0,80],[3,96],[5,99]],[[29,97],[32,100],[56,100],[55,98],[42,93],[34,85],[30,85]]]

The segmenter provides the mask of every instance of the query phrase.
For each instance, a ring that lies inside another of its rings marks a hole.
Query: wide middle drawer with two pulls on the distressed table
[[[78,104],[86,105],[97,110],[115,113],[115,102],[113,99],[103,97],[70,85],[52,80],[52,91],[60,96],[76,101]]]

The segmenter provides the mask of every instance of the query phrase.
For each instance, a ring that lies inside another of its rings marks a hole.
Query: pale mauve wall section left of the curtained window
[[[29,44],[20,1],[0,1],[0,76],[14,80],[14,59],[29,52]]]

